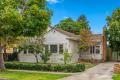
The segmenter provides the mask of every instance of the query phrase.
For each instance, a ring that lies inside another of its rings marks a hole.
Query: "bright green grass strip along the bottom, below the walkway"
[[[0,72],[0,78],[10,79],[10,80],[57,80],[59,78],[63,78],[67,76],[70,76],[70,75],[15,72],[15,71]]]

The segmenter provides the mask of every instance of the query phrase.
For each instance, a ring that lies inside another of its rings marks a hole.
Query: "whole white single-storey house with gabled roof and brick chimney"
[[[105,61],[105,42],[103,35],[94,34],[92,39],[97,43],[91,46],[87,51],[79,52],[80,36],[58,28],[50,28],[44,35],[45,50],[49,50],[52,55],[50,56],[49,63],[64,63],[63,52],[68,51],[71,55],[71,62],[78,62],[79,59],[94,59]],[[40,55],[38,55],[41,62]],[[20,62],[36,62],[35,57],[31,51],[21,51],[19,54]]]

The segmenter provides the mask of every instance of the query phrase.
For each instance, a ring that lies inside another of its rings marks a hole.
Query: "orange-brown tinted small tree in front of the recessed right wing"
[[[79,52],[84,53],[88,51],[91,46],[96,45],[96,41],[94,41],[94,35],[91,33],[90,29],[84,28],[80,31],[80,42],[79,42]],[[81,54],[80,54],[81,55]],[[91,56],[91,61],[93,60]]]

